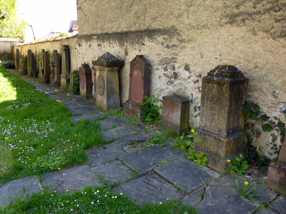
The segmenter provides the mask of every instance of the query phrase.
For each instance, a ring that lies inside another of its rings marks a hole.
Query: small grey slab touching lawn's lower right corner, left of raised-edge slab
[[[95,167],[92,167],[99,179],[108,183],[122,183],[132,178],[132,171],[119,160],[113,160]]]

